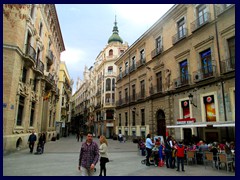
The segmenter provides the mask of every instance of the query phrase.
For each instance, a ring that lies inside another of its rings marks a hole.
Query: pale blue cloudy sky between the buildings
[[[65,51],[61,61],[74,80],[83,80],[84,67],[94,65],[98,54],[108,44],[115,16],[119,35],[131,46],[173,4],[56,4]]]

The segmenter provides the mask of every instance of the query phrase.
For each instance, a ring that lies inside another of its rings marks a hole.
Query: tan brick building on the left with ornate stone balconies
[[[30,132],[55,131],[60,54],[53,4],[3,5],[3,149],[27,147]]]

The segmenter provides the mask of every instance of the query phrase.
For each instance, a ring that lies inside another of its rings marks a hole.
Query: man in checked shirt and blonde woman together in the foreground
[[[93,141],[93,133],[88,132],[86,141],[82,143],[79,155],[78,169],[82,176],[92,176],[94,174],[95,166],[100,157],[100,173],[99,176],[106,176],[106,163],[108,159],[108,142],[106,137],[101,135],[99,137],[100,146]],[[102,174],[103,173],[103,174]]]

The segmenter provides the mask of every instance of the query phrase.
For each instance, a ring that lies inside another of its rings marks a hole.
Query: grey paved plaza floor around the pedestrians
[[[99,143],[97,138],[94,141]],[[217,170],[211,165],[185,165],[185,172],[141,164],[143,156],[132,141],[119,143],[109,139],[107,176],[235,176],[235,172]],[[45,144],[42,155],[30,154],[29,149],[3,156],[3,176],[81,176],[78,158],[81,142],[75,136],[62,137]],[[36,148],[36,147],[35,147]],[[100,163],[94,176],[99,175]]]

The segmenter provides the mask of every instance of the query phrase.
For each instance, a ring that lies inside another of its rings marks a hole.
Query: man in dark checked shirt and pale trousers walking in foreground
[[[82,143],[78,170],[82,172],[82,176],[92,176],[94,168],[98,162],[99,148],[96,142],[93,141],[93,133],[88,132],[86,141]]]

